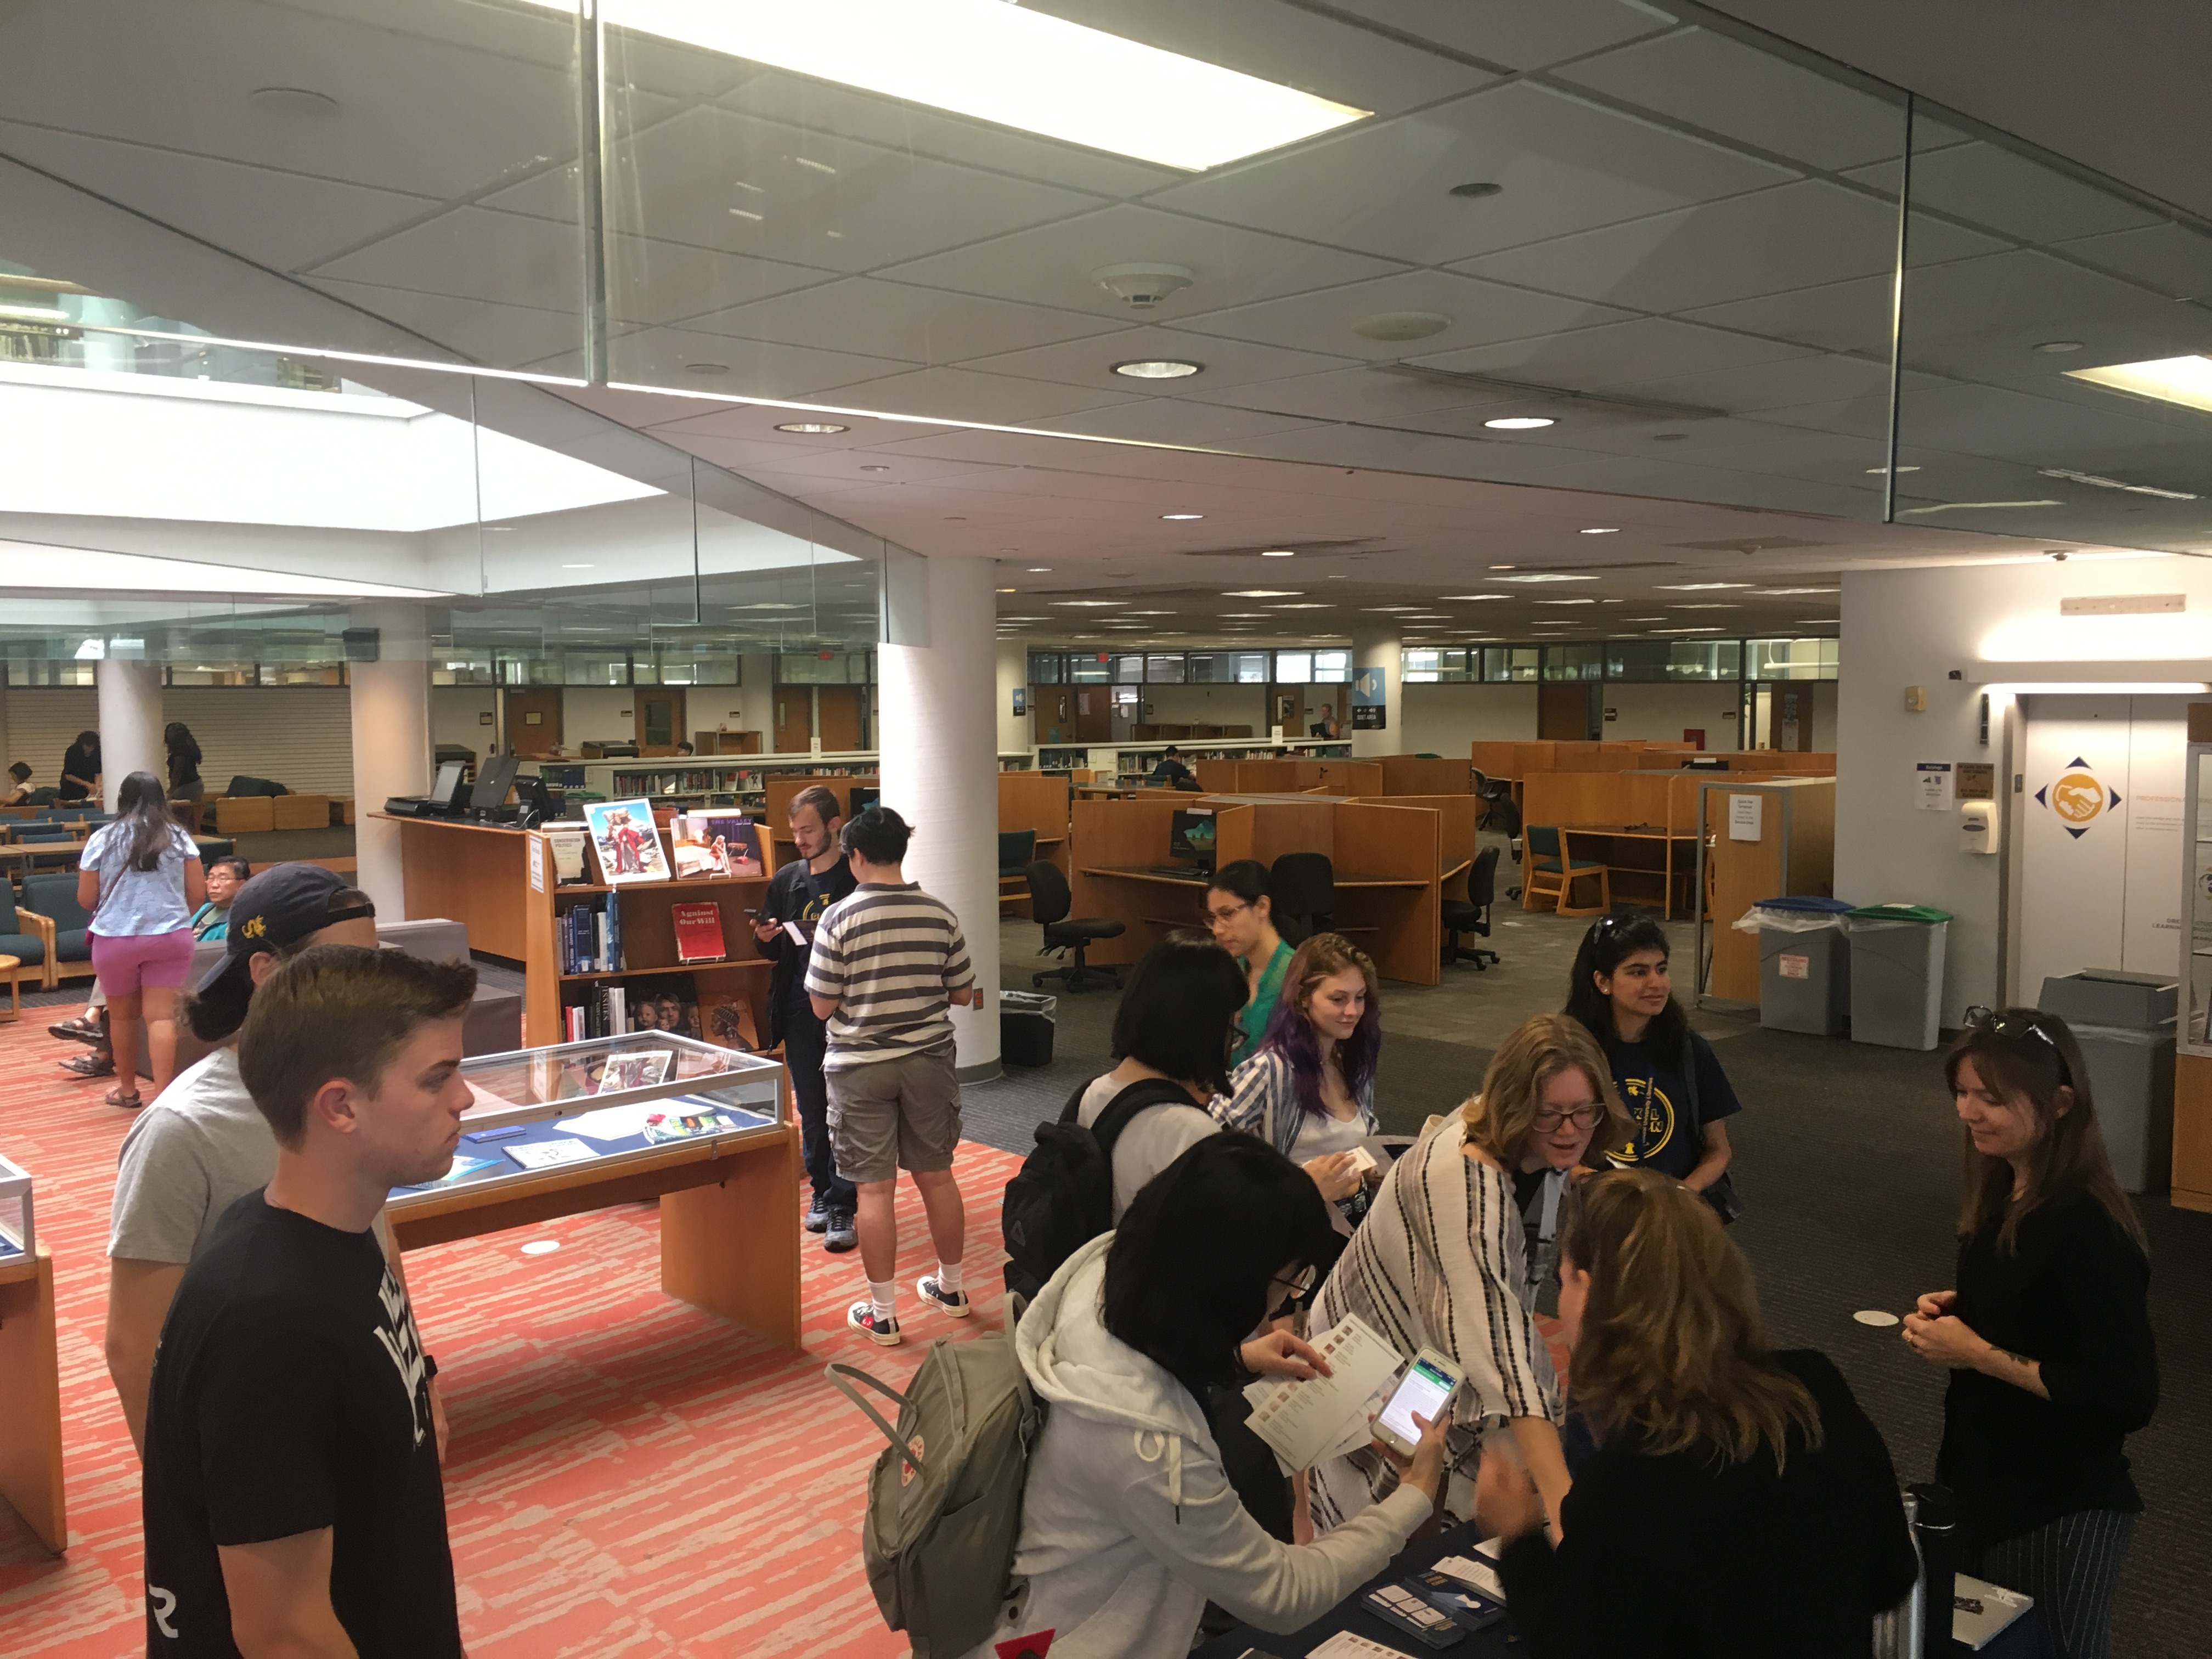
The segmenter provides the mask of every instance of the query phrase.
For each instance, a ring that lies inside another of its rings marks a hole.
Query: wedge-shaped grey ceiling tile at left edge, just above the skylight
[[[0,153],[272,270],[301,270],[436,210],[431,197],[334,184],[144,144],[0,122]]]

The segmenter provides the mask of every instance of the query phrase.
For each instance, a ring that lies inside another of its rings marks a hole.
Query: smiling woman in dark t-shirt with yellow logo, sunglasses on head
[[[1566,1013],[1588,1026],[1613,1062],[1613,1086],[1632,1133],[1606,1157],[1624,1168],[1659,1170],[1692,1192],[1728,1175],[1728,1121],[1741,1110],[1712,1044],[1690,1031],[1668,973],[1659,922],[1601,916],[1582,936],[1566,987]],[[1708,1192],[1734,1221],[1734,1188]]]

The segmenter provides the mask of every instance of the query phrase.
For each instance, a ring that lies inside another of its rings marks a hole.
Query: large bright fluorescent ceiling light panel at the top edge
[[[575,15],[575,0],[535,0]],[[1002,0],[602,0],[615,29],[659,35],[1201,173],[1369,111]]]

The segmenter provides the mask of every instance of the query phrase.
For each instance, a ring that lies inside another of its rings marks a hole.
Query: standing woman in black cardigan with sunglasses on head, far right
[[[2124,1442],[2159,1405],[2150,1256],[2055,1013],[2006,1009],[1944,1055],[1966,1133],[1958,1287],[1905,1316],[1951,1371],[1936,1475],[1960,1566],[2035,1597],[2057,1659],[2104,1659],[2143,1500]]]

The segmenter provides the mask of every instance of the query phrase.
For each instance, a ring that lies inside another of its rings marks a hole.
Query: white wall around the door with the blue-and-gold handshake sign
[[[2079,595],[2181,593],[2181,615],[2062,617]],[[2199,659],[2183,675],[2177,664]],[[1973,1002],[2000,998],[2000,907],[2004,858],[1958,849],[1951,812],[1913,801],[1916,761],[1991,761],[2002,814],[2017,816],[2035,792],[2008,792],[2024,765],[2004,748],[2011,697],[1991,695],[1991,745],[1978,739],[1986,681],[2044,681],[2110,672],[2115,681],[2201,679],[2212,657],[2212,568],[2183,557],[2066,564],[1847,571],[1843,577],[1843,675],[1836,699],[1836,896],[1856,905],[1913,900],[1953,914],[1944,962],[1947,1026]],[[1949,679],[1951,670],[1962,679]],[[1905,690],[1927,692],[1927,712],[1905,708]],[[1818,734],[1818,706],[1816,726]],[[2006,838],[2020,827],[2004,823]],[[2174,887],[2181,872],[2174,872]],[[2022,987],[2033,995],[2039,987]]]

